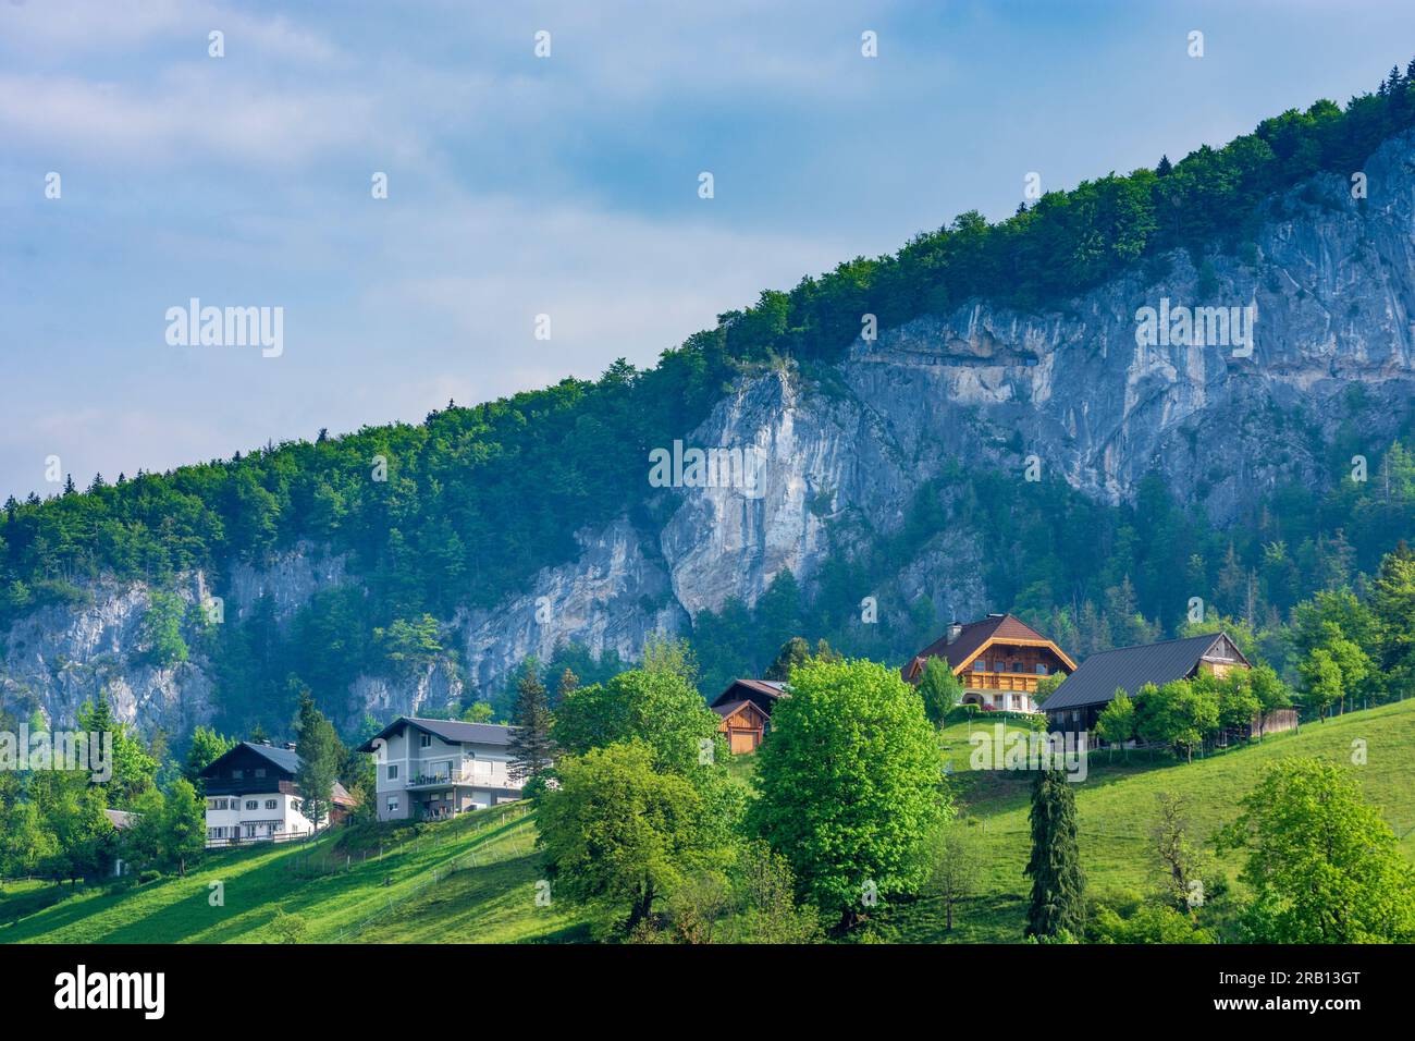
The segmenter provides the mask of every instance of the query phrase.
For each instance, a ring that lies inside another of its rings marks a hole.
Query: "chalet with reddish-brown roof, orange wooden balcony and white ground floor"
[[[931,657],[944,660],[959,678],[965,705],[1013,712],[1037,711],[1032,695],[1041,677],[1075,671],[1061,647],[1012,615],[954,622],[904,666],[904,680],[918,683]]]

